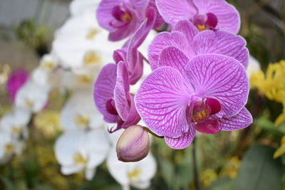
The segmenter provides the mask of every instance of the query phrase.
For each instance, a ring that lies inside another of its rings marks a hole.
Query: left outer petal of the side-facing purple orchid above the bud
[[[116,83],[117,66],[108,64],[102,68],[94,84],[94,100],[98,110],[104,115],[106,122],[117,122],[118,115],[112,115],[106,110],[106,102],[113,98]]]

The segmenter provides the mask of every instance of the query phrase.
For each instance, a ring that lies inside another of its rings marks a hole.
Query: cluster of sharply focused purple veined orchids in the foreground
[[[143,80],[146,58],[138,47],[161,17],[169,31],[158,33],[148,46],[152,72]],[[237,36],[234,6],[224,0],[103,0],[97,19],[110,31],[110,41],[130,36],[94,85],[95,105],[105,122],[117,123],[109,132],[134,127],[141,119],[168,146],[183,149],[196,132],[239,130],[252,123],[244,107],[249,51]],[[133,85],[139,85],[136,92]]]

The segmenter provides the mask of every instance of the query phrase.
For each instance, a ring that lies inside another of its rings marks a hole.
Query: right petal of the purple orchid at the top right
[[[199,14],[212,13],[217,16],[217,28],[222,31],[238,33],[240,27],[239,12],[224,0],[192,0]]]

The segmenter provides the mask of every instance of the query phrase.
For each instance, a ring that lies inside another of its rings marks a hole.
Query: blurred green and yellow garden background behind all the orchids
[[[262,77],[269,63],[285,60],[285,1],[228,2],[239,10],[239,35],[247,40],[262,71],[250,80],[247,108],[254,123],[244,130],[197,137],[201,189],[285,189],[285,139],[281,140],[285,135],[281,118],[285,117],[285,62]],[[9,74],[16,68],[36,68],[41,56],[51,50],[56,28],[70,16],[69,4],[68,0],[0,0],[0,116],[13,104],[6,91]],[[274,78],[277,74],[279,78]],[[279,85],[278,98],[267,92],[274,85]],[[62,131],[59,112],[64,97],[51,93],[50,98],[48,109],[29,126],[23,153],[0,165],[0,189],[120,189],[105,164],[98,167],[92,181],[86,181],[83,174],[61,174],[53,144]],[[195,189],[192,146],[173,150],[163,139],[154,138],[152,153],[159,162],[149,189]]]

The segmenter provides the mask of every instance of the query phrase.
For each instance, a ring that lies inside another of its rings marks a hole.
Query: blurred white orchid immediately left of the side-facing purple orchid
[[[90,130],[103,127],[103,115],[93,102],[92,89],[74,91],[61,110],[61,125],[65,130]]]

